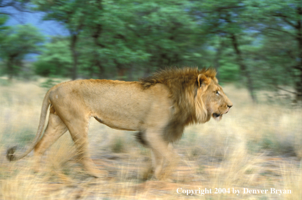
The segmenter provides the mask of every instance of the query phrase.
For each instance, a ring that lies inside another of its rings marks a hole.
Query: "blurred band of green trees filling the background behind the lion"
[[[296,98],[302,95],[300,1],[33,0],[26,5],[70,33],[44,44],[33,63],[39,75],[136,80],[170,66],[214,67],[220,82],[241,82],[254,101],[258,89],[287,85]],[[24,55],[36,52],[43,40],[29,26],[24,31],[36,40],[8,34],[21,27],[5,27],[6,20],[0,16],[2,51],[26,49],[8,67],[20,69]],[[22,47],[28,43],[32,46]],[[1,55],[8,66],[8,54]]]

